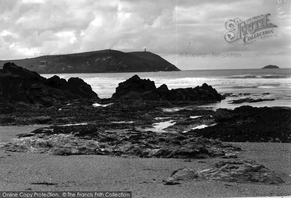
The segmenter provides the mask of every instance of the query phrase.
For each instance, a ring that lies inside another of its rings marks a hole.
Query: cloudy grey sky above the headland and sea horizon
[[[290,0],[286,1],[0,0],[0,60],[33,58],[36,53],[146,48],[182,70],[268,64],[291,68],[291,12]],[[278,26],[276,36],[248,45],[226,42],[227,20],[267,13]],[[192,58],[186,53],[211,56]],[[241,57],[212,57],[212,53]]]

